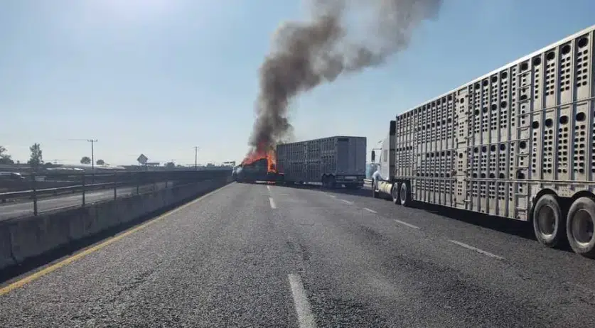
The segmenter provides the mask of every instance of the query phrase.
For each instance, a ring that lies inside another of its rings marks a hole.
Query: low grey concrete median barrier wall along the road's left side
[[[0,270],[188,202],[227,183],[227,177],[206,180],[37,217],[0,222]]]

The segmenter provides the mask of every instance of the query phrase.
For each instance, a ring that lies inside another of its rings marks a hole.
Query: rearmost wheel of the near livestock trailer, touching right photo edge
[[[566,219],[566,236],[574,253],[595,258],[595,202],[580,197],[572,203]]]

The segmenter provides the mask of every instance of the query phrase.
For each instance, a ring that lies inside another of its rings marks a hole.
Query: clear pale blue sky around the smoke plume
[[[257,70],[300,1],[4,0],[0,145],[26,161],[241,160]],[[593,0],[447,0],[387,65],[291,105],[297,140],[382,138],[396,114],[595,24]]]

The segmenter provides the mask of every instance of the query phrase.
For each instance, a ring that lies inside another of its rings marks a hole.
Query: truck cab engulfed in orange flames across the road
[[[277,154],[274,149],[251,153],[234,168],[232,177],[236,182],[249,183],[283,180],[283,174],[277,171]]]

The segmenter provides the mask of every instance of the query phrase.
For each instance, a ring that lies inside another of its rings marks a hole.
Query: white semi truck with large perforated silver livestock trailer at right
[[[397,115],[373,197],[532,223],[595,258],[595,26]]]

